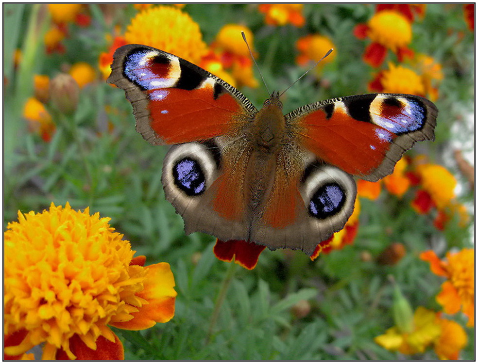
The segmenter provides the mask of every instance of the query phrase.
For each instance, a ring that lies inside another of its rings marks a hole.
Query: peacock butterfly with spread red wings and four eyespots
[[[377,181],[415,142],[434,140],[438,110],[420,96],[339,97],[284,115],[277,92],[257,110],[227,82],[152,47],[118,48],[111,68],[137,131],[172,144],[161,179],[186,234],[311,255],[352,214],[353,175]]]

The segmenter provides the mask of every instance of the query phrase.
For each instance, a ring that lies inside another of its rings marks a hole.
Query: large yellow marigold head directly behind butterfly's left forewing
[[[199,25],[181,10],[157,6],[137,14],[124,34],[126,43],[162,49],[192,63],[207,53]]]

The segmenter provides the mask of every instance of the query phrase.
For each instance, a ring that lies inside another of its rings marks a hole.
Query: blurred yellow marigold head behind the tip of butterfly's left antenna
[[[244,32],[247,42],[251,48],[254,44],[254,35],[246,26],[239,24],[226,24],[216,35],[215,45],[224,51],[234,53],[239,56],[250,57],[247,45],[242,39],[241,32]]]

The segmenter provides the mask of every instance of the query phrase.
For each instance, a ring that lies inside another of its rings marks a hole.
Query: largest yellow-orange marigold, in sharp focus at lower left
[[[23,215],[4,233],[5,359],[43,344],[43,360],[123,359],[107,325],[147,329],[174,316],[168,263],[144,256],[99,213],[66,204]]]

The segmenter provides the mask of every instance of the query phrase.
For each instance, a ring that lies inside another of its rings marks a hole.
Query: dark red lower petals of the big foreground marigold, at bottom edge
[[[120,338],[113,333],[115,341],[111,342],[104,336],[96,340],[96,350],[86,346],[80,336],[74,334],[69,339],[69,348],[76,355],[76,360],[124,360],[124,349]],[[67,353],[58,349],[56,360],[69,360]]]

